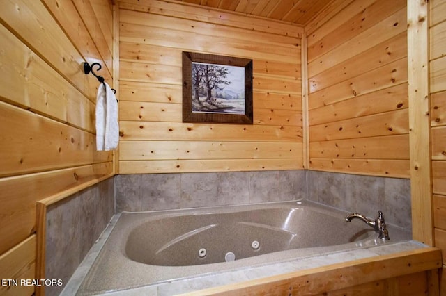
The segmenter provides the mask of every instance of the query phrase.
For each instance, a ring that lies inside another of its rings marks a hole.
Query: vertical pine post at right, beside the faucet
[[[408,1],[410,195],[415,240],[433,245],[429,133],[429,6]]]

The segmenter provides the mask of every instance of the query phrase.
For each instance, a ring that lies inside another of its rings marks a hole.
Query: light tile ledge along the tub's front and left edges
[[[246,281],[262,279],[266,277],[277,276],[289,272],[298,272],[311,270],[313,268],[321,268],[337,263],[346,263],[364,258],[373,258],[381,255],[397,254],[399,252],[423,249],[426,245],[413,240],[401,242],[386,243],[380,245],[364,246],[355,249],[337,250],[332,252],[322,252],[312,256],[299,256],[291,259],[282,260],[273,263],[257,263],[254,266],[243,266],[233,268],[231,270],[222,270],[217,272],[207,272],[190,277],[178,279],[169,279],[159,283],[153,283],[147,286],[134,285],[134,288],[124,290],[110,290],[106,293],[89,293],[79,290],[82,283],[88,277],[95,259],[105,245],[107,238],[114,229],[116,222],[121,214],[114,215],[109,225],[102,233],[95,245],[89,251],[84,261],[82,261],[75,274],[67,283],[61,295],[176,295],[180,293],[190,293],[197,290],[224,286],[234,283],[242,283]],[[392,233],[391,233],[392,234]],[[109,270],[102,269],[101,272],[107,274]],[[113,281],[113,279],[109,279]]]

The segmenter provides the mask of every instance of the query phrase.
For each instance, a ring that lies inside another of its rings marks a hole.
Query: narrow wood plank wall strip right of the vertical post
[[[446,274],[446,0],[429,1],[431,166],[436,247],[443,249]],[[446,276],[443,279],[446,294]],[[443,294],[442,294],[443,295]]]

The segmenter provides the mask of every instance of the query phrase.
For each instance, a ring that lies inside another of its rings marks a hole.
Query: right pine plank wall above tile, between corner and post
[[[409,178],[406,0],[332,1],[305,34],[309,169]]]

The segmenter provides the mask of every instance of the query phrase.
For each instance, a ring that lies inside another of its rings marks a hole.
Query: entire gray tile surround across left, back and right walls
[[[411,228],[410,180],[306,170],[123,174],[47,211],[47,279],[66,283],[114,213],[309,199]],[[63,287],[47,287],[58,295]]]

